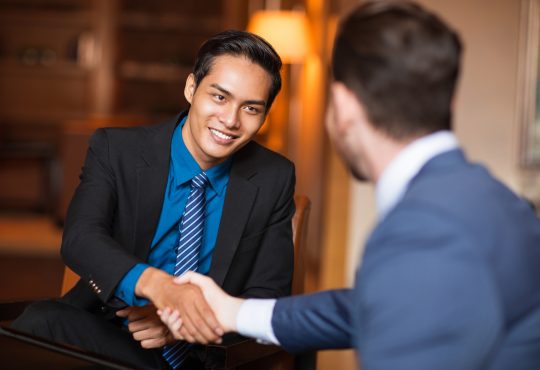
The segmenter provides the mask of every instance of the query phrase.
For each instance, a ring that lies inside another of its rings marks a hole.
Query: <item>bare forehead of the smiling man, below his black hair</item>
[[[201,86],[219,85],[233,96],[251,100],[266,100],[272,80],[260,65],[243,56],[216,57]]]

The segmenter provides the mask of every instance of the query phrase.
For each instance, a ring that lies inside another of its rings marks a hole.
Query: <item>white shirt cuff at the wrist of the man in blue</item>
[[[275,299],[246,299],[236,316],[238,333],[255,338],[259,343],[279,345],[272,329],[275,304]]]

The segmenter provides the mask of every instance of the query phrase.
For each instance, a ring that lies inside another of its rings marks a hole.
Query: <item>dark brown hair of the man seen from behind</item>
[[[433,13],[408,1],[370,1],[341,23],[333,75],[395,139],[451,129],[461,41]]]

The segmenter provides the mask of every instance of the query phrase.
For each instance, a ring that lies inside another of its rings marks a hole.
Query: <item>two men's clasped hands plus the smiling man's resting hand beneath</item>
[[[188,271],[173,278],[150,268],[135,292],[152,303],[118,311],[143,348],[159,348],[185,340],[220,343],[226,332],[236,331],[236,316],[243,299],[225,293],[211,278]]]

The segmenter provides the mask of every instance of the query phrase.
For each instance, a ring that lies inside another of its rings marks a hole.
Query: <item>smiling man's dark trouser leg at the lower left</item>
[[[121,325],[67,303],[47,300],[28,306],[11,325],[54,342],[71,344],[144,369],[170,369],[161,349],[143,349]],[[183,369],[192,366],[185,364]]]

